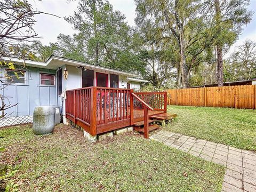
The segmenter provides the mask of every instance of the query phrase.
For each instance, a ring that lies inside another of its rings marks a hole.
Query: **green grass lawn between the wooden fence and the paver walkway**
[[[256,150],[256,110],[168,106],[177,113],[166,129],[240,149]]]

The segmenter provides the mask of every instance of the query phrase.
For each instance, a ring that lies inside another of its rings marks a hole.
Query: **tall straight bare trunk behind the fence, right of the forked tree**
[[[220,10],[220,0],[214,0],[215,5],[215,20],[218,34],[220,34],[220,20],[221,20],[221,10]],[[218,40],[217,40],[218,41]],[[223,86],[223,60],[222,60],[222,45],[217,42],[217,81],[218,86]]]

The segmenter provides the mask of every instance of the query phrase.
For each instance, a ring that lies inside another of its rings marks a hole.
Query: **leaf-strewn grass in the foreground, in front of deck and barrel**
[[[14,170],[2,185],[20,191],[221,191],[225,173],[132,133],[89,144],[63,124],[44,137],[22,125],[0,130],[0,137],[0,163]]]

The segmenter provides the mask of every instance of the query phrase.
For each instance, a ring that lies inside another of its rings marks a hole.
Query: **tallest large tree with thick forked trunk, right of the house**
[[[150,20],[161,30],[161,39],[170,39],[167,42],[169,45],[173,44],[174,39],[174,44],[178,45],[178,87],[181,87],[181,84],[183,88],[188,87],[188,73],[194,67],[194,61],[209,46],[208,43],[205,44],[207,41],[203,40],[207,37],[205,15],[209,7],[206,9],[204,2],[196,0],[136,0],[135,3],[137,25],[144,25]],[[196,44],[200,49],[191,55],[188,63],[189,49]]]

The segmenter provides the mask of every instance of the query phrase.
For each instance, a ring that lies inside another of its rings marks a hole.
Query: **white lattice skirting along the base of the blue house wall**
[[[33,122],[33,115],[6,117],[0,120],[0,127],[18,125],[23,123],[32,123],[32,122]]]

